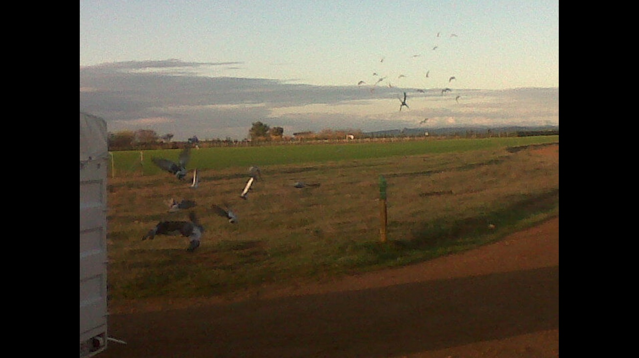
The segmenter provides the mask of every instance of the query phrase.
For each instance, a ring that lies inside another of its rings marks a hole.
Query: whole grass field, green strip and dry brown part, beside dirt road
[[[495,241],[558,214],[558,155],[539,155],[538,145],[558,152],[558,136],[194,149],[197,189],[147,163],[175,159],[179,150],[145,152],[144,175],[126,164],[139,152],[116,152],[108,184],[110,299],[327,280]],[[263,180],[242,200],[250,165],[259,165]],[[385,243],[380,175],[389,185]],[[321,185],[293,188],[296,181]],[[141,241],[160,220],[187,220],[187,211],[167,213],[169,198],[197,202],[192,210],[206,231],[194,253],[185,251],[185,237]],[[235,225],[211,213],[222,201],[238,214]]]

